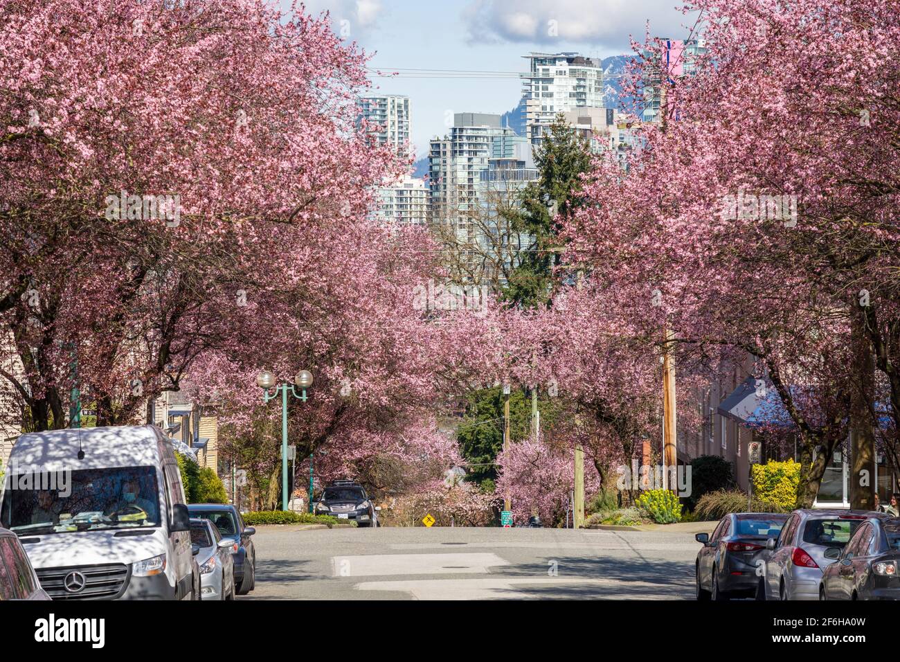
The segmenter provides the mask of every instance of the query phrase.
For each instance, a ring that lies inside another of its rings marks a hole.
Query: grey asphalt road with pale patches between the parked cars
[[[256,590],[238,599],[694,598],[688,533],[259,527]]]

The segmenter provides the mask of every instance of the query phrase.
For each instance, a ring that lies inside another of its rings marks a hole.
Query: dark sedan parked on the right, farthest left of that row
[[[757,560],[766,540],[777,536],[788,515],[734,512],[723,517],[712,537],[698,533],[695,581],[698,600],[755,596],[760,583]]]

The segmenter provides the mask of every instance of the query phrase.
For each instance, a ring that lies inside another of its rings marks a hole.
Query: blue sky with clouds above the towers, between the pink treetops
[[[328,10],[336,32],[374,53],[374,68],[518,72],[531,50],[599,58],[628,52],[629,34],[643,39],[647,21],[654,35],[684,37],[696,14],[681,14],[676,5],[679,0],[310,0],[306,8]],[[380,92],[410,96],[418,158],[433,136],[446,132],[453,113],[504,113],[521,95],[515,77],[424,75],[434,76],[374,78]]]

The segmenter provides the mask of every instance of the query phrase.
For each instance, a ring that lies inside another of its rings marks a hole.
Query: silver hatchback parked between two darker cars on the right
[[[830,548],[843,549],[869,517],[887,519],[886,513],[839,509],[800,509],[791,512],[778,539],[766,541],[762,600],[818,600],[822,570],[833,559]]]

